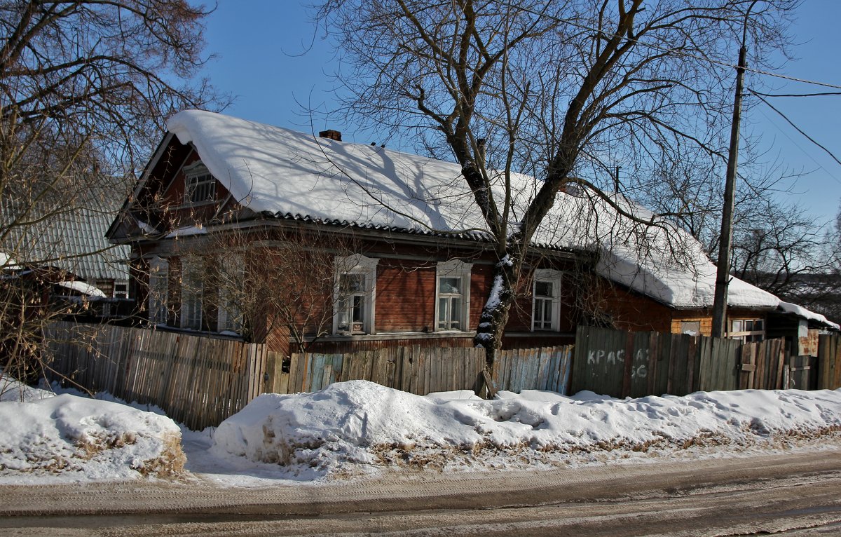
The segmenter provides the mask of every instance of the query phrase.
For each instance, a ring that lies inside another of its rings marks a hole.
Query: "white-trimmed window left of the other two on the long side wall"
[[[334,334],[373,334],[379,259],[354,254],[336,258]]]

